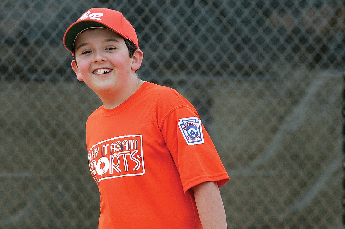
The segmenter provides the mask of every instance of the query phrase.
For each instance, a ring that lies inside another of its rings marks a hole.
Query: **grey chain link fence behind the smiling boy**
[[[101,101],[62,44],[92,7],[134,25],[141,79],[196,106],[229,228],[343,228],[341,0],[1,0],[0,228],[97,228],[85,122]]]

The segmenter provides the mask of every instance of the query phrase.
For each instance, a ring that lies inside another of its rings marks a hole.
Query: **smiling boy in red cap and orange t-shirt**
[[[143,53],[132,25],[93,8],[66,31],[77,79],[103,105],[86,122],[99,228],[226,228],[229,177],[195,108],[175,90],[137,76]]]

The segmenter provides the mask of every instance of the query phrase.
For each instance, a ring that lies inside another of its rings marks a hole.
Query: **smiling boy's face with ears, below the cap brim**
[[[136,56],[130,58],[124,39],[108,29],[88,29],[75,41],[72,69],[99,96],[123,90],[131,74],[140,65]],[[101,94],[99,94],[101,93]]]

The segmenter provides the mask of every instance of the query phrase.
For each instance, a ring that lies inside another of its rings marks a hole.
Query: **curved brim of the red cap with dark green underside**
[[[72,24],[63,37],[63,44],[65,44],[66,49],[68,49],[70,52],[73,52],[74,42],[78,34],[93,27],[101,27],[112,30],[108,26],[97,21],[79,21],[75,24]]]

